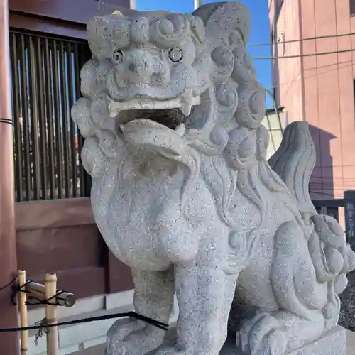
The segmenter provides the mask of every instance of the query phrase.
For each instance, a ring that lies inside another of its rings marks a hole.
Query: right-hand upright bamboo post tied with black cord
[[[45,275],[45,297],[50,303],[55,302],[55,295],[57,293],[57,276],[55,274]],[[45,318],[48,324],[57,322],[57,306],[45,305]],[[58,328],[49,327],[47,333],[47,355],[58,354]]]

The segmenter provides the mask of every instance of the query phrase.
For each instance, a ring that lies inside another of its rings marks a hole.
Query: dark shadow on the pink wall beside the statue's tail
[[[310,134],[317,152],[315,169],[310,180],[310,196],[312,200],[332,200],[336,196],[330,141],[337,137],[312,125],[310,125]]]

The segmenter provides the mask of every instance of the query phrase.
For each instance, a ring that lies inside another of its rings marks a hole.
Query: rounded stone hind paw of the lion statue
[[[261,314],[244,324],[236,336],[236,343],[247,355],[284,355],[288,339],[282,322]]]

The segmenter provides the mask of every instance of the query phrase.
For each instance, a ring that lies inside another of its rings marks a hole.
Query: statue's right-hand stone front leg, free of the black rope
[[[218,355],[226,340],[237,275],[224,273],[225,256],[214,253],[214,246],[201,249],[192,265],[175,265],[177,339],[157,355]]]

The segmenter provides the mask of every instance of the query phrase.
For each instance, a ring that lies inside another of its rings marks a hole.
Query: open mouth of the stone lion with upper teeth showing
[[[192,106],[198,104],[200,104],[200,97],[192,97],[188,105],[180,97],[166,101],[143,98],[128,102],[116,102],[107,97],[109,114],[119,119],[119,126],[136,119],[148,119],[175,131],[184,128]]]

